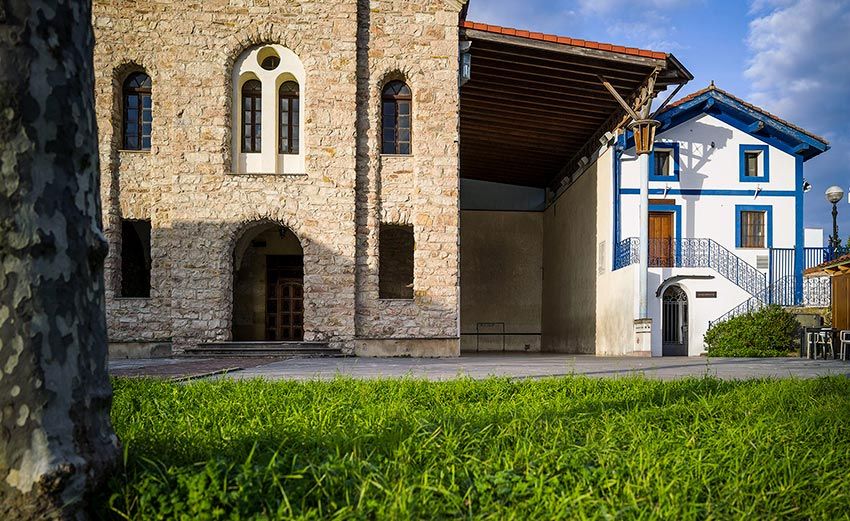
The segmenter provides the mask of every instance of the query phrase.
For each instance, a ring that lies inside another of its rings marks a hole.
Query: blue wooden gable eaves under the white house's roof
[[[829,145],[787,124],[734,100],[717,90],[710,90],[657,116],[665,132],[700,114],[711,114],[717,119],[746,132],[789,154],[801,154],[803,160],[829,150]],[[802,145],[806,145],[801,149]],[[634,140],[629,143],[634,146]]]

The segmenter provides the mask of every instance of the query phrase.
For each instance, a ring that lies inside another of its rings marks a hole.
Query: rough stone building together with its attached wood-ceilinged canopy
[[[571,222],[598,201],[558,201],[625,122],[601,78],[635,106],[691,78],[465,0],[95,0],[93,25],[110,342],[139,353],[594,352],[603,239]]]

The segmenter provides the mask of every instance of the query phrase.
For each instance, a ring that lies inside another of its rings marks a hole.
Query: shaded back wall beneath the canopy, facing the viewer
[[[542,298],[543,213],[462,211],[461,350],[540,350]],[[476,337],[478,323],[511,334]]]

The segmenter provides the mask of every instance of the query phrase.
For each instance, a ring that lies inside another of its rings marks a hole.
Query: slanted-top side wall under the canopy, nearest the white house
[[[544,212],[543,351],[596,352],[597,176],[604,172],[594,163]]]

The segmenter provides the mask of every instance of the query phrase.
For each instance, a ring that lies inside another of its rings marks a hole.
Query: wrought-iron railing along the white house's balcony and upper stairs
[[[630,237],[614,249],[614,269],[638,262],[640,239]],[[653,268],[711,268],[750,295],[767,288],[767,277],[714,239],[650,239]]]

